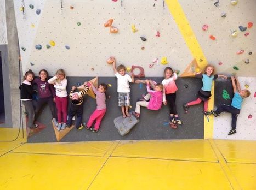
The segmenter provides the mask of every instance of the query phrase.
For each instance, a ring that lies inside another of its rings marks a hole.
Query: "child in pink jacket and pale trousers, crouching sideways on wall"
[[[150,83],[153,84],[153,89],[150,90]],[[163,100],[163,85],[161,83],[157,83],[150,80],[146,80],[147,84],[147,92],[144,97],[145,100],[136,102],[136,108],[134,116],[136,118],[140,117],[140,106],[146,107],[149,110],[160,110],[162,106]],[[149,102],[147,102],[149,100]]]

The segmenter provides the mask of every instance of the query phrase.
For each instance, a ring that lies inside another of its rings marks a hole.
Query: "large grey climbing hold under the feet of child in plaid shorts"
[[[129,133],[130,129],[139,122],[139,120],[130,112],[130,117],[123,118],[123,116],[114,119],[115,127],[120,135]]]

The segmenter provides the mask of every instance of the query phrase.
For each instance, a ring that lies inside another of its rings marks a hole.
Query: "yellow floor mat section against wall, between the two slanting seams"
[[[218,162],[208,140],[121,141],[111,156]]]

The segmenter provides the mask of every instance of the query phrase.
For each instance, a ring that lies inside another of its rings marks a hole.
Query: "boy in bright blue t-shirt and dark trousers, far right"
[[[241,110],[241,105],[243,102],[243,98],[247,98],[248,96],[250,96],[250,91],[248,91],[247,89],[241,90],[240,88],[240,84],[237,78],[234,78],[234,76],[231,77],[232,80],[232,86],[233,86],[233,90],[234,90],[234,97],[232,99],[232,103],[231,106],[230,105],[220,105],[218,107],[218,109],[216,111],[213,111],[212,114],[217,117],[219,116],[219,114],[223,111],[229,112],[232,115],[232,122],[231,122],[231,126],[232,129],[230,130],[228,135],[232,135],[236,133],[236,121],[237,121],[237,117],[238,114],[240,113]],[[235,82],[236,80],[236,82]]]

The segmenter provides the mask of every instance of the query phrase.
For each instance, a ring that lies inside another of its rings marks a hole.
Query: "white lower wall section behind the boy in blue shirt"
[[[256,140],[256,78],[238,77],[241,89],[247,88],[251,96],[244,98],[240,114],[237,118],[237,133],[227,135],[231,130],[231,114],[221,113],[214,118],[214,138],[234,140]]]

